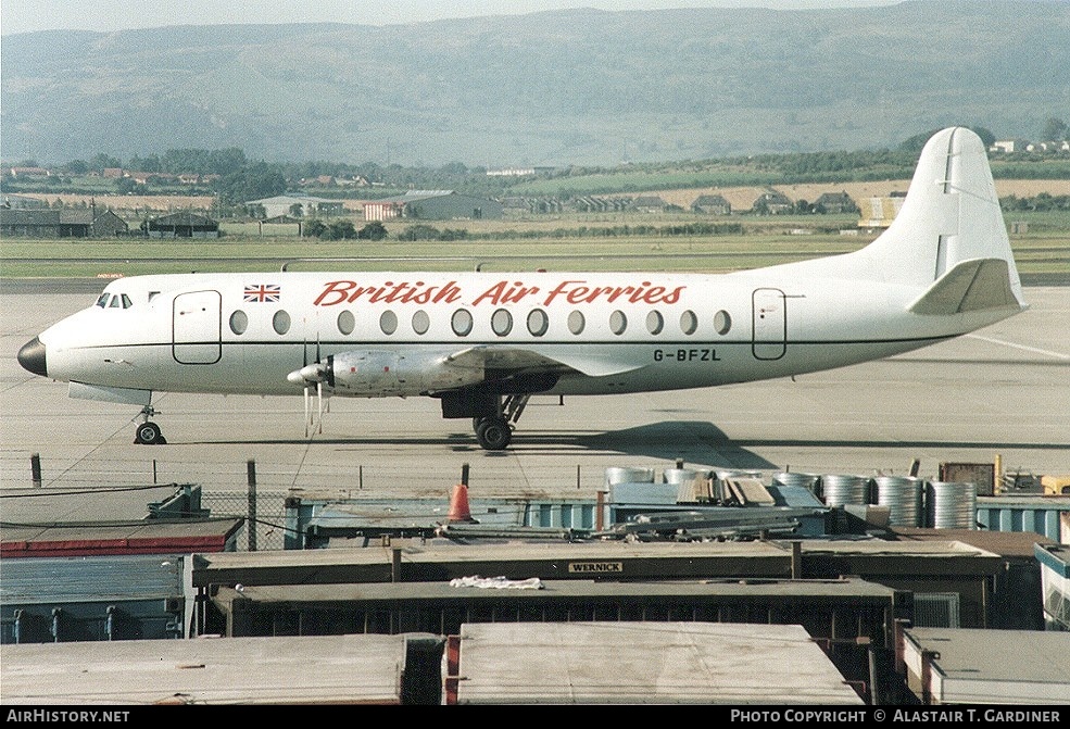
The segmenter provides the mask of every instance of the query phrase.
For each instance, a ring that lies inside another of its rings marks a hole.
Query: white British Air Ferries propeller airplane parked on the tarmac
[[[732,274],[278,273],[110,282],[18,351],[70,394],[427,395],[508,447],[532,394],[703,388],[831,369],[973,331],[1027,307],[985,149],[926,144],[903,208],[869,246]],[[138,419],[138,418],[135,418]]]

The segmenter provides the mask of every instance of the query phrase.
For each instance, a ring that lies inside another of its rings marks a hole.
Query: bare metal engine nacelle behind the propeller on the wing
[[[483,381],[482,369],[450,365],[445,354],[367,350],[340,352],[330,363],[340,395],[418,395]]]

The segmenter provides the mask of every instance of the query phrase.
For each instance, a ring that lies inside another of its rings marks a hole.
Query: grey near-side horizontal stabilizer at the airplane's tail
[[[1021,309],[1010,288],[1010,268],[1003,259],[962,261],[941,276],[907,311],[947,316],[992,309]]]

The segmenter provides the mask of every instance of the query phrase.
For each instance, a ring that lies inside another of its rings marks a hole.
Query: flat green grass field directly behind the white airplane
[[[801,225],[792,221],[748,227],[743,235],[716,236],[591,235],[592,230],[610,229],[615,225],[610,221],[557,221],[554,228],[534,229],[525,228],[524,224],[499,228],[501,224],[487,222],[471,230],[478,238],[450,242],[316,241],[246,236],[211,241],[7,239],[0,246],[0,277],[110,278],[191,271],[269,272],[279,271],[284,264],[290,271],[470,271],[478,266],[483,271],[723,273],[845,253],[865,246],[873,237],[861,231],[841,235],[823,228],[792,227]],[[545,225],[546,222],[540,223]],[[517,226],[531,237],[511,237]],[[580,231],[586,232],[579,235]],[[1070,279],[1070,235],[1066,230],[1033,226],[1029,232],[1011,235],[1011,246],[1023,277]],[[304,259],[313,261],[301,261]]]

